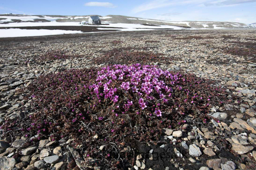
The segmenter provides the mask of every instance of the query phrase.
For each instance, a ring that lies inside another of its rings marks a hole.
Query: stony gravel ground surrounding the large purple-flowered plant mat
[[[22,109],[30,108],[32,102],[25,99],[28,92],[24,88],[40,75],[101,67],[108,62],[97,59],[104,58],[107,51],[125,47],[126,51],[161,53],[170,62],[157,61],[152,65],[215,80],[217,85],[227,87],[230,98],[235,95],[241,101],[224,107],[212,106],[208,113],[210,121],[205,124],[188,115],[186,124],[165,130],[163,138],[168,142],[137,142],[131,148],[136,153],[133,164],[123,169],[256,169],[256,30],[115,32],[0,39],[0,126],[24,117]],[[42,55],[51,51],[77,57],[42,59]],[[73,147],[71,136],[31,143],[27,136],[6,136],[6,133],[0,130],[0,170],[104,169],[104,165],[84,166],[87,158],[79,147]],[[104,146],[97,149],[103,150]]]

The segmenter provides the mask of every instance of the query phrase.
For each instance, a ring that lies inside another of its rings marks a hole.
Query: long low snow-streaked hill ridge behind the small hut
[[[16,14],[0,14],[0,24],[6,22],[88,22],[91,15],[87,16],[59,16],[59,15],[16,15]],[[98,15],[99,16],[99,15]],[[215,28],[238,28],[248,27],[246,24],[238,22],[211,22],[211,21],[162,21],[153,19],[144,19],[120,15],[99,16],[103,22],[125,23],[125,24],[157,24],[179,26],[183,28],[196,29],[215,29]],[[255,23],[254,23],[255,24]]]

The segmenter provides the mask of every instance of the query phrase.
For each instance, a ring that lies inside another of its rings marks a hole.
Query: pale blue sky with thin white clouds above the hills
[[[1,0],[0,14],[124,15],[166,21],[256,22],[256,0]]]

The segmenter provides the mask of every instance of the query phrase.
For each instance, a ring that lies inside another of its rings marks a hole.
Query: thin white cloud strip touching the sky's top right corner
[[[256,2],[256,0],[215,0],[213,2],[204,3],[205,6],[233,6]]]

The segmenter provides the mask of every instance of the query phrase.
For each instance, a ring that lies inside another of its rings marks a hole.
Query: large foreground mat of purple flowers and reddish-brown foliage
[[[31,142],[72,136],[72,145],[83,144],[84,154],[93,158],[100,155],[95,148],[106,145],[101,154],[111,159],[118,156],[111,142],[120,152],[123,142],[129,146],[132,138],[159,141],[163,128],[178,128],[189,121],[188,114],[207,122],[212,105],[231,102],[226,100],[230,94],[213,84],[192,74],[141,64],[50,73],[26,89],[32,103],[24,108],[24,118],[6,121],[1,128],[6,136],[19,133]],[[129,162],[131,156],[121,158]]]

